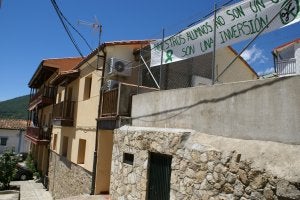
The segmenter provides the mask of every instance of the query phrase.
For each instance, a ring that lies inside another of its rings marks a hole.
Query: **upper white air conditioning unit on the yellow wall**
[[[131,76],[132,64],[129,61],[118,58],[108,60],[108,76]]]

